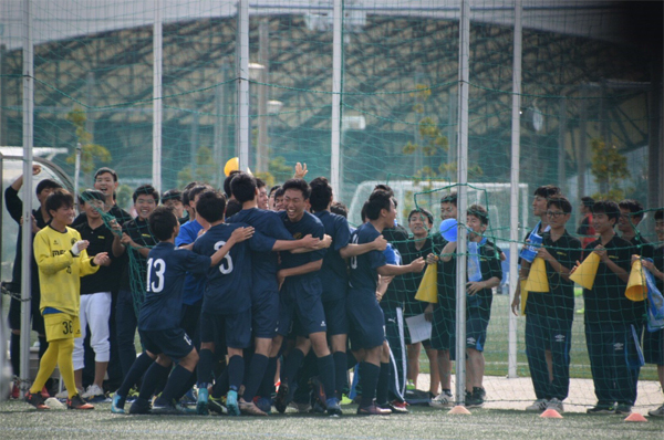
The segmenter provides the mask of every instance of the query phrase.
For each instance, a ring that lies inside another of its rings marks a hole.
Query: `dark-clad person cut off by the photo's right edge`
[[[641,264],[655,277],[660,292],[664,292],[664,210],[655,211],[655,232],[660,247],[654,252],[654,263],[642,260]],[[664,389],[664,328],[656,332],[645,332],[643,336],[643,357],[646,364],[657,366],[660,388]],[[664,417],[664,405],[657,409],[651,409],[647,413],[652,417]]]

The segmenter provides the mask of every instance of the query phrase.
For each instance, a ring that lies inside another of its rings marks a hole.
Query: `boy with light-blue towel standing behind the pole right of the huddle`
[[[500,256],[492,242],[484,237],[489,224],[486,208],[473,205],[466,213],[468,227],[468,256],[466,283],[466,406],[484,405],[486,391],[483,386],[485,358],[484,347],[487,341],[487,327],[491,316],[494,301],[492,289],[502,280]],[[452,259],[457,242],[449,242],[443,249],[443,261]],[[453,344],[454,345],[454,344]],[[453,348],[450,348],[453,349]]]

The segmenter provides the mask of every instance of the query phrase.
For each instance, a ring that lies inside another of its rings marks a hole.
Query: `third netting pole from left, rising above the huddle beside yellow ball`
[[[236,156],[240,169],[249,167],[249,0],[238,0],[237,36],[238,116],[236,125]]]

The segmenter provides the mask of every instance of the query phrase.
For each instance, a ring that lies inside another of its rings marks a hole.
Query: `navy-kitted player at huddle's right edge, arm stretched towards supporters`
[[[382,189],[375,190],[366,205],[369,221],[357,228],[351,242],[364,244],[373,242],[385,229],[394,228],[396,208],[391,195]],[[383,409],[375,402],[378,383],[387,400],[390,380],[390,358],[385,352],[385,332],[383,312],[376,301],[376,280],[381,276],[395,276],[409,272],[422,272],[424,259],[417,259],[408,265],[386,264],[385,255],[380,251],[371,251],[351,258],[351,273],[347,296],[347,314],[351,324],[350,338],[353,352],[360,357],[360,385],[362,400],[357,408],[360,415],[387,415],[392,411]]]

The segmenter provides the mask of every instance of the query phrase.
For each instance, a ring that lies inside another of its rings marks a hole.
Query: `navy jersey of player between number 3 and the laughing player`
[[[251,208],[242,209],[235,216],[226,219],[227,223],[247,223],[261,234],[276,240],[292,240],[293,235],[286,229],[281,217],[274,211]],[[277,271],[279,261],[277,252],[251,251],[251,268],[253,272],[253,286],[251,297],[263,292],[278,292]]]

